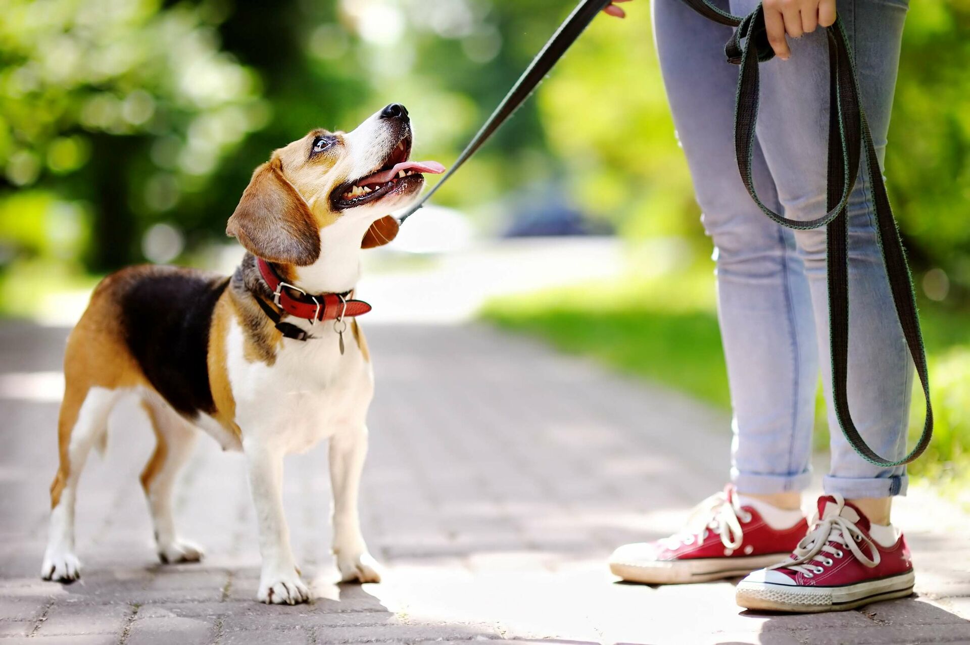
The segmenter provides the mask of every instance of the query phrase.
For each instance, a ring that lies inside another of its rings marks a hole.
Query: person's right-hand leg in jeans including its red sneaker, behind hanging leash
[[[733,13],[757,0],[731,0]],[[840,0],[839,16],[855,50],[863,107],[880,152],[889,110],[906,6],[904,0]],[[788,61],[761,66],[760,147],[784,214],[810,219],[824,212],[828,119],[828,56],[823,30],[790,39]],[[912,362],[896,322],[873,223],[867,170],[850,200],[849,406],[859,433],[890,459],[905,450]],[[805,261],[831,405],[825,232],[795,233]],[[891,496],[906,490],[904,468],[878,468],[853,451],[829,412],[832,463],[818,502],[812,539],[794,557],[755,571],[737,587],[737,602],[759,610],[844,610],[912,593],[914,572],[902,534],[889,526]]]

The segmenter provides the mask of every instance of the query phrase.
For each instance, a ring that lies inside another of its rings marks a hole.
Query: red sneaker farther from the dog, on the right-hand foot
[[[869,535],[869,520],[840,495],[819,499],[812,532],[788,562],[755,571],[737,603],[770,611],[843,611],[913,593],[913,564],[902,535],[890,547]]]

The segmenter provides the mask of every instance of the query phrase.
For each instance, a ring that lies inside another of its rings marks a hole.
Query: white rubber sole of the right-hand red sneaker
[[[907,597],[913,593],[915,579],[913,571],[909,571],[847,587],[796,587],[742,580],[735,598],[739,606],[760,611],[846,611],[870,602]]]

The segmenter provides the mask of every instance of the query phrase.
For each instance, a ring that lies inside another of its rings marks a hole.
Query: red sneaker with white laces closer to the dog
[[[684,531],[621,546],[609,568],[624,580],[646,584],[730,578],[785,560],[807,530],[804,518],[791,529],[772,529],[756,509],[740,506],[728,485],[697,505]]]

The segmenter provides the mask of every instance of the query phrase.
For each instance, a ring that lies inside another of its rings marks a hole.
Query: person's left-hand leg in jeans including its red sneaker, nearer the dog
[[[674,123],[716,249],[733,486],[701,502],[695,525],[624,545],[609,563],[625,580],[703,582],[781,562],[808,531],[799,501],[809,479],[818,362],[794,237],[761,214],[733,162],[737,68],[724,59],[730,29],[679,0],[655,0],[654,26]],[[773,192],[760,154],[755,167],[762,191]]]

